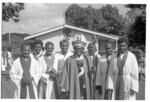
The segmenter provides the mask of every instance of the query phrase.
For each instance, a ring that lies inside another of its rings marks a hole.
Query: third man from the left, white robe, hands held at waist
[[[41,99],[55,99],[58,97],[57,83],[54,79],[57,69],[53,67],[55,59],[52,53],[53,49],[54,44],[52,42],[47,42],[45,44],[46,53],[38,60],[42,71],[39,83],[39,98]]]

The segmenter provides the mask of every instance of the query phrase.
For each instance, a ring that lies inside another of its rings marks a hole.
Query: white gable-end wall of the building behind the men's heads
[[[69,49],[70,49],[70,51],[73,51],[73,47],[72,47],[73,37],[74,37],[75,34],[78,34],[78,33],[84,34],[84,36],[86,37],[86,40],[87,40],[87,45],[90,42],[92,42],[93,34],[80,32],[80,31],[77,31],[77,30],[71,30],[71,37],[70,37],[70,40],[69,40],[69,43],[70,43]],[[47,41],[53,42],[54,43],[54,53],[55,53],[57,51],[60,51],[59,42],[64,38],[65,38],[65,36],[62,33],[62,29],[61,29],[61,30],[58,30],[58,31],[55,31],[55,32],[51,32],[51,33],[42,35],[42,36],[38,36],[36,39],[42,40],[44,45]],[[106,37],[104,38],[102,36],[96,36],[96,38],[97,38],[97,43],[96,43],[97,49],[104,50],[105,44],[109,39],[106,38]],[[85,51],[87,51],[87,45],[86,45]]]

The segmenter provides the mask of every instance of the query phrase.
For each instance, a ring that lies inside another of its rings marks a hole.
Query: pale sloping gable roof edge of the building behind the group
[[[79,28],[79,27],[64,24],[64,25],[60,25],[60,26],[45,30],[45,31],[41,31],[41,32],[32,34],[30,36],[25,37],[24,40],[29,40],[29,39],[32,39],[32,38],[35,38],[35,37],[38,37],[38,36],[41,36],[41,35],[44,35],[44,34],[47,34],[47,33],[51,33],[51,32],[63,29],[63,28],[69,28],[69,29],[82,31],[82,32],[89,33],[89,34],[95,34],[95,35],[98,35],[98,36],[103,36],[103,37],[107,37],[107,38],[114,39],[114,40],[118,40],[120,38],[119,36],[116,36],[116,35],[99,33],[99,32],[95,32],[95,31],[92,31],[92,30],[87,30],[87,29],[83,29],[83,28]]]

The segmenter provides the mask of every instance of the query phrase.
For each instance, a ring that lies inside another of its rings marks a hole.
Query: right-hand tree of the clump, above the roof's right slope
[[[120,35],[119,32],[123,28],[123,17],[119,14],[119,10],[111,5],[101,8],[102,15],[106,21],[105,32]]]

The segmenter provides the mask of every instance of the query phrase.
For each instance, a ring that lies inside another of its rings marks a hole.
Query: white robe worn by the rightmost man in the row
[[[123,55],[120,56],[121,59],[123,58]],[[115,59],[117,62],[117,58]],[[113,71],[109,71],[109,80],[108,80],[108,88],[115,90],[116,88],[116,80],[117,78],[114,77],[114,71],[118,70],[118,66],[114,67],[117,69],[113,69]],[[117,71],[118,72],[118,71]],[[135,91],[138,93],[139,90],[139,82],[138,82],[138,63],[136,60],[136,57],[133,53],[128,52],[128,57],[125,62],[125,65],[123,67],[123,79],[125,83],[124,91],[129,92],[130,90]],[[129,95],[127,100],[135,100],[136,94]]]

